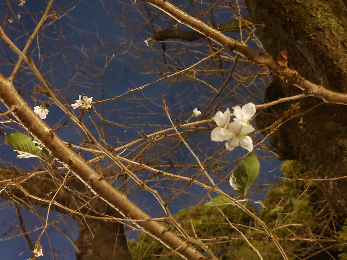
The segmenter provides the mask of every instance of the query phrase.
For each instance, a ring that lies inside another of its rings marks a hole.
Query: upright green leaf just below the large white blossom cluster
[[[230,176],[230,186],[245,196],[251,184],[258,177],[260,164],[255,153],[248,156]]]

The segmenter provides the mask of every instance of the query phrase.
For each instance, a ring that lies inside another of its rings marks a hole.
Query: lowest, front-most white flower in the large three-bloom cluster
[[[225,146],[229,151],[232,151],[237,146],[245,148],[249,152],[253,150],[252,138],[247,134],[253,132],[255,129],[252,125],[243,124],[241,121],[236,120],[228,125],[228,131],[232,137],[225,143]]]

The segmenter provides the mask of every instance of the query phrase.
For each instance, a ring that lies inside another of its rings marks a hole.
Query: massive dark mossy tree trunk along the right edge
[[[345,0],[246,0],[265,50],[276,57],[288,51],[288,67],[313,83],[347,93],[347,9]],[[265,100],[301,93],[278,78],[266,89]],[[297,102],[297,101],[295,101]],[[290,103],[263,111],[257,126],[264,129]],[[300,100],[301,113],[270,135],[282,159],[298,159],[318,178],[336,178],[347,172],[347,106],[322,104],[316,98]],[[347,213],[347,179],[321,181],[325,196],[338,212]]]

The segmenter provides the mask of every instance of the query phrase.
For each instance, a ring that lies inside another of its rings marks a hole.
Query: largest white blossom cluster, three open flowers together
[[[234,106],[235,118],[230,123],[230,109],[223,113],[218,111],[213,120],[217,123],[217,127],[211,132],[212,141],[227,141],[225,143],[228,150],[234,150],[235,147],[241,146],[249,152],[253,150],[252,138],[248,136],[249,133],[255,129],[249,123],[255,114],[256,108],[253,103],[248,103],[242,108]]]

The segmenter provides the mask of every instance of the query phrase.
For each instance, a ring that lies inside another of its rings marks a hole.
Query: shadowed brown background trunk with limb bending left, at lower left
[[[36,175],[20,186],[27,193],[48,200],[57,191],[60,183],[63,181],[61,174],[55,174],[55,171],[50,173]],[[19,172],[14,168],[0,168],[0,176],[3,180],[16,180],[23,176],[23,172]],[[26,174],[25,174],[26,175]],[[57,177],[55,177],[57,176]],[[6,193],[7,192],[7,193]],[[17,185],[9,185],[6,192],[2,192],[2,196],[6,199],[14,199],[22,201],[24,206],[32,203],[40,207],[48,207],[48,203],[40,200],[32,199],[26,196]],[[83,198],[83,199],[82,199]],[[122,218],[118,211],[110,207],[103,200],[95,196],[85,185],[73,175],[69,176],[65,185],[59,190],[54,201],[71,209],[78,211],[81,214],[88,216],[104,217],[113,216]],[[119,259],[130,260],[130,252],[127,245],[126,236],[124,233],[124,225],[117,221],[106,222],[102,219],[93,219],[84,217],[51,204],[51,210],[59,211],[63,214],[69,214],[77,220],[79,225],[79,237],[76,241],[78,252],[77,259]],[[31,241],[32,244],[35,241]]]

